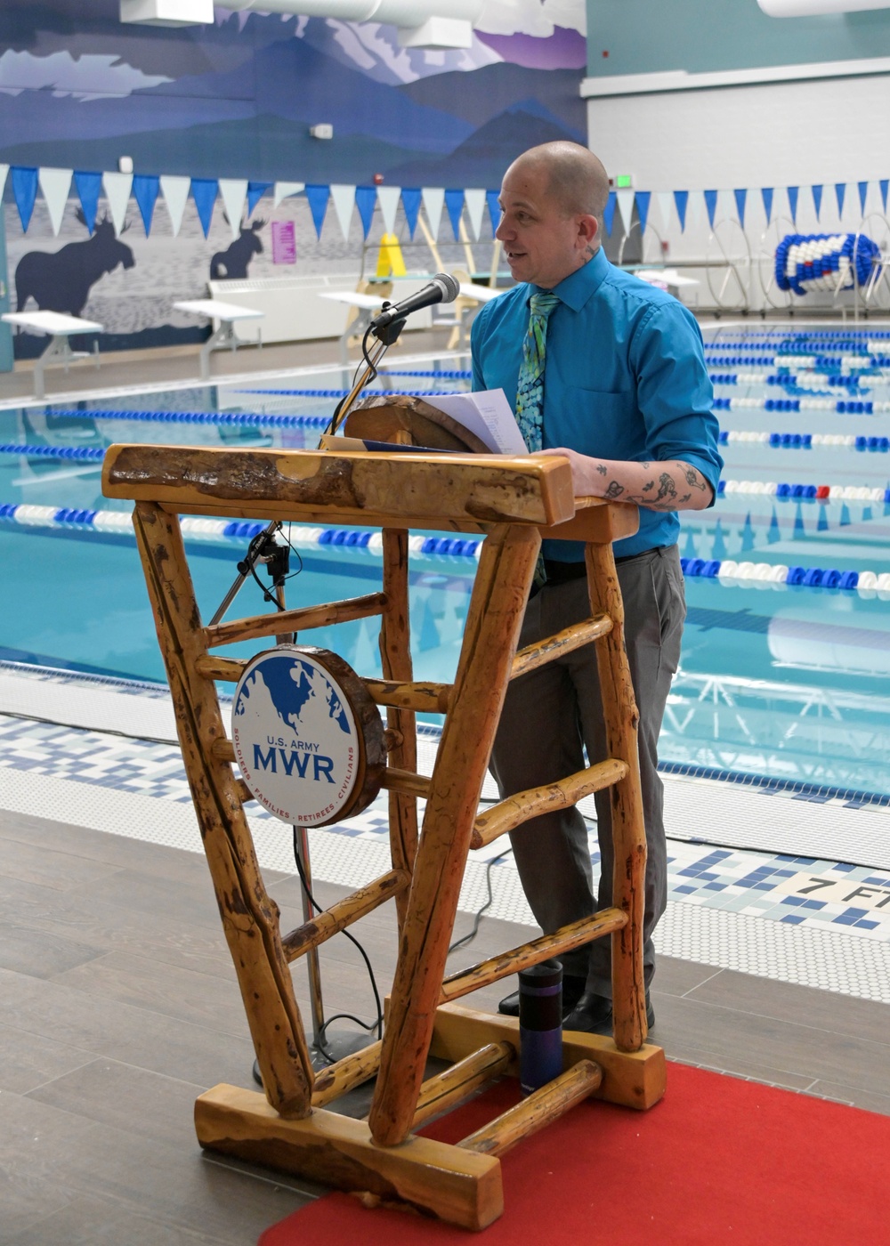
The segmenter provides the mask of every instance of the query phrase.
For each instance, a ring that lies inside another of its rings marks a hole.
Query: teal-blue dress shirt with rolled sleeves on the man
[[[529,299],[521,284],[486,303],[472,324],[472,388],[502,389],[516,410]],[[672,295],[615,268],[602,250],[553,288],[547,326],[543,449],[568,446],[596,459],[681,459],[717,496],[723,460],[713,390],[696,318]],[[673,545],[676,511],[639,508],[639,531],[616,557]],[[583,558],[577,541],[545,541],[547,558]]]

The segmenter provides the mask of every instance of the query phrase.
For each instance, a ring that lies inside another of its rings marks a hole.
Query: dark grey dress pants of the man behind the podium
[[[618,562],[624,601],[624,638],[639,708],[639,771],[648,858],[643,968],[648,989],[654,973],[652,931],[667,905],[667,846],[663,786],[658,778],[658,733],[671,678],[679,660],[686,617],[677,546],[649,549]],[[590,617],[587,579],[545,584],[530,599],[520,647]],[[515,679],[507,690],[491,754],[501,796],[565,779],[606,750],[595,645]],[[587,827],[577,809],[532,819],[510,839],[529,905],[545,933],[588,917],[612,903],[612,819],[608,790],[597,792],[600,881],[596,902]],[[612,997],[611,938],[596,939],[562,957],[566,973],[587,978],[587,991]]]

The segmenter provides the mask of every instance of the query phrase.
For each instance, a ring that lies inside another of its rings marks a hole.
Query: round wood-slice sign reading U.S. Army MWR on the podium
[[[270,814],[299,826],[335,822],[364,769],[353,706],[315,657],[323,653],[288,644],[261,653],[241,677],[232,706],[244,782]]]

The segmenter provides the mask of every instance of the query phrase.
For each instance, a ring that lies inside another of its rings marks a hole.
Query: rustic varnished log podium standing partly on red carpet
[[[363,1192],[369,1202],[408,1205],[467,1229],[485,1227],[504,1210],[500,1156],[521,1138],[590,1095],[647,1109],[664,1091],[663,1052],[646,1044],[638,715],[611,548],[615,540],[636,531],[636,507],[573,498],[565,459],[420,452],[120,445],[106,455],[103,491],[136,503],[136,537],[183,759],[266,1089],[263,1096],[218,1085],[201,1095],[196,1103],[201,1145]],[[206,627],[179,530],[182,513],[380,527],[380,591]],[[452,684],[413,678],[411,527],[485,535]],[[586,542],[591,616],[517,653],[542,537]],[[381,786],[389,791],[391,868],[283,934],[244,816],[252,794],[233,770],[234,748],[214,688],[214,680],[237,683],[246,663],[211,650],[368,617],[380,618],[383,679],[363,683],[371,700],[386,708]],[[608,759],[480,815],[509,680],[591,642]],[[418,710],[445,715],[429,779],[416,773]],[[469,851],[603,787],[610,787],[612,801],[613,907],[445,977]],[[419,797],[426,801],[420,835]],[[290,962],[390,898],[399,956],[383,1040],[315,1074]],[[519,1023],[456,1001],[605,936],[612,938],[613,1038],[567,1033],[565,1072],[555,1082],[456,1145],[418,1136],[414,1130],[431,1115],[519,1067]],[[452,1064],[424,1082],[429,1054]],[[330,1110],[339,1095],[373,1077],[376,1087],[366,1120]]]

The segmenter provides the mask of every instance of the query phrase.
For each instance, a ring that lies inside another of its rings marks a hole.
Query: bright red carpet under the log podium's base
[[[516,1099],[494,1087],[424,1133],[457,1141]],[[583,1103],[502,1160],[504,1216],[485,1246],[851,1246],[890,1241],[890,1118],[790,1090],[668,1067],[648,1113]],[[438,1246],[475,1235],[368,1211],[347,1194],[309,1204],[259,1246]]]

